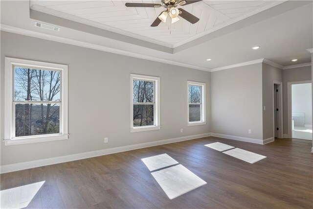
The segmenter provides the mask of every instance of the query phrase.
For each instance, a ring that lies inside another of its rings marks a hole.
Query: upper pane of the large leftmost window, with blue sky
[[[14,67],[15,101],[60,101],[60,72]]]

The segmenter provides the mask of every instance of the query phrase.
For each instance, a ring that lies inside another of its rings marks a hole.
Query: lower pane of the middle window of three
[[[154,105],[134,105],[134,127],[154,125]]]

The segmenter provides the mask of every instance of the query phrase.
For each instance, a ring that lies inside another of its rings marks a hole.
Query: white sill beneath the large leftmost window
[[[58,134],[58,135],[46,135],[46,136],[31,136],[31,137],[19,137],[14,139],[5,139],[5,145],[15,145],[15,144],[28,144],[28,143],[36,143],[36,142],[44,142],[44,141],[55,141],[55,140],[63,140],[68,139],[68,134]]]

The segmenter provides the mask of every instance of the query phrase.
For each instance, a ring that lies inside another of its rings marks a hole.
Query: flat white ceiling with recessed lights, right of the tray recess
[[[260,14],[261,15],[261,14]],[[266,13],[264,14],[265,16]],[[249,20],[246,20],[249,21]],[[246,24],[245,24],[246,25]],[[226,29],[226,28],[225,28]],[[261,46],[253,50],[252,46]],[[225,32],[200,45],[179,51],[180,58],[191,65],[221,66],[265,58],[282,66],[311,62],[306,49],[313,46],[313,5],[304,5],[288,12]],[[206,61],[207,58],[212,61]],[[292,62],[292,59],[298,61]]]

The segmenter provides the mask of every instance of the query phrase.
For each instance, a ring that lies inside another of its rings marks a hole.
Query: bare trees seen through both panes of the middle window
[[[154,82],[133,80],[134,127],[154,125]]]

